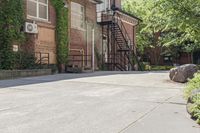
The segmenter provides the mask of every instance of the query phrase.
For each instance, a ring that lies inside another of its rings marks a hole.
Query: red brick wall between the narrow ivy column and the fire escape
[[[88,60],[84,62],[84,67],[91,67],[91,55],[92,55],[92,29],[95,29],[95,46],[101,46],[101,32],[100,28],[96,24],[96,5],[92,4],[88,0],[72,0],[84,6],[85,9],[85,29],[70,29],[70,58],[73,55],[79,55],[74,57],[76,60],[81,60],[82,53],[78,50],[84,49],[84,59]],[[86,56],[88,55],[88,56]],[[96,59],[95,59],[95,62]],[[81,62],[70,62],[70,65],[82,66]],[[97,63],[95,63],[97,66]]]

